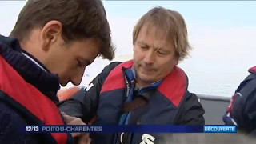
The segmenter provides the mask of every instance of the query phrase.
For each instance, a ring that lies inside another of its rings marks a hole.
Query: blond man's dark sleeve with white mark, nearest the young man
[[[102,84],[106,77],[115,66],[121,62],[112,62],[106,66],[90,85],[79,90],[72,98],[60,102],[58,108],[70,116],[81,118],[83,122],[90,122],[90,119],[96,114],[98,107],[98,98]]]

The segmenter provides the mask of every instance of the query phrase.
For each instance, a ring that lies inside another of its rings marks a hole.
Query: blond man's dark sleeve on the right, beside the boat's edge
[[[186,98],[182,102],[181,111],[177,118],[177,124],[182,125],[205,125],[203,114],[205,110],[202,108],[198,97],[190,92],[186,92]]]

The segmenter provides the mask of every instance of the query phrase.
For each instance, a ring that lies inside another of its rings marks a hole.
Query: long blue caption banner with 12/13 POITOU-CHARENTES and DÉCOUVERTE
[[[24,129],[23,129],[24,130]],[[34,133],[236,133],[236,126],[104,125],[25,126]]]

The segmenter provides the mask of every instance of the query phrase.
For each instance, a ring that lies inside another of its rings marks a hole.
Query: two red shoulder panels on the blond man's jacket
[[[131,68],[132,66],[133,61],[130,60],[128,62],[121,63],[111,70],[102,85],[101,93],[125,88],[122,67]],[[165,95],[166,98],[174,104],[174,106],[178,106],[186,93],[186,86],[186,74],[178,66],[174,66],[174,70],[172,70],[170,74],[162,80],[161,85],[158,86],[158,90],[161,94]]]

